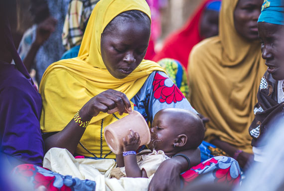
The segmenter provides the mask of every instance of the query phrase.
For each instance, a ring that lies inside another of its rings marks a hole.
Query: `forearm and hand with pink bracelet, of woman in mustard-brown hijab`
[[[218,139],[211,141],[211,143],[215,145],[216,147],[219,147],[220,149],[225,151],[230,157],[234,157],[234,154],[236,153],[236,151],[238,151],[237,148],[233,147],[229,143],[220,141]],[[238,156],[237,161],[242,168],[246,169],[246,165],[252,157],[253,157],[253,154],[242,152]]]

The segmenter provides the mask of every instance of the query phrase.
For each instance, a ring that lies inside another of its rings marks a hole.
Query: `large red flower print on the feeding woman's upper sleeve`
[[[167,104],[176,103],[185,98],[174,83],[171,86],[167,86],[165,84],[166,80],[169,80],[169,78],[162,76],[158,72],[155,74],[153,80],[154,98],[158,99],[161,103],[166,102]]]

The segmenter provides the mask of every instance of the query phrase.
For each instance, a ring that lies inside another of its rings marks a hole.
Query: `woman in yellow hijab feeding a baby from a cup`
[[[162,68],[143,60],[149,36],[150,11],[145,1],[97,3],[79,56],[52,64],[42,78],[41,129],[47,137],[46,151],[60,147],[75,155],[114,159],[102,132],[125,112],[138,110],[148,122],[162,108],[195,112]],[[76,118],[76,122],[72,118],[79,109],[76,116],[81,119]],[[82,127],[88,123],[87,128]],[[192,165],[198,164],[198,158],[197,154],[197,160],[190,159]],[[183,157],[177,157],[164,166],[176,175],[171,183],[178,184],[178,175],[188,164]]]

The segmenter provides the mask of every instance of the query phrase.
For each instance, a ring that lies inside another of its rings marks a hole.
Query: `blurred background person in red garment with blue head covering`
[[[187,68],[192,47],[202,39],[218,34],[220,6],[221,0],[206,0],[183,28],[165,39],[163,48],[154,56],[153,61],[173,58]]]

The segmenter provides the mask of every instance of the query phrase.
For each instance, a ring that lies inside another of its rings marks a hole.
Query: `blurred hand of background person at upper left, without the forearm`
[[[44,21],[38,24],[36,29],[35,43],[37,45],[42,45],[54,32],[57,20],[51,16],[46,18]]]

